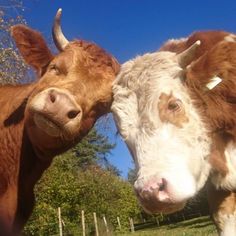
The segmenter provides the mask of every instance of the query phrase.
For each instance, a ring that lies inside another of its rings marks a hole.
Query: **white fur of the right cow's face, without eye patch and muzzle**
[[[193,196],[210,171],[211,142],[207,129],[181,82],[176,54],[139,56],[121,67],[114,82],[112,111],[117,127],[138,169],[137,184],[153,176],[166,178],[174,200]],[[158,112],[162,93],[184,105],[189,121],[182,128],[162,122]],[[140,180],[140,181],[139,181]]]

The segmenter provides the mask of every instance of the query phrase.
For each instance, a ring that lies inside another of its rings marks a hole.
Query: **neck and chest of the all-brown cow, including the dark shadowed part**
[[[0,87],[0,94],[6,94],[0,97],[0,161],[2,167],[0,177],[2,170],[4,171],[3,176],[8,178],[6,181],[10,179],[10,186],[7,188],[6,185],[5,192],[4,189],[1,189],[2,192],[0,191],[0,201],[2,199],[5,202],[8,195],[11,195],[11,206],[8,206],[6,210],[0,209],[0,212],[3,213],[11,208],[10,213],[6,212],[9,221],[5,222],[5,219],[0,219],[0,223],[5,222],[7,227],[12,227],[13,224],[16,235],[32,212],[34,185],[51,163],[51,159],[38,158],[25,130],[25,105],[34,87],[34,84]]]

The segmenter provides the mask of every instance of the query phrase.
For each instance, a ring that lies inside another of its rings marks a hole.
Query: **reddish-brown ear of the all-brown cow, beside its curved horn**
[[[26,63],[41,75],[53,59],[43,36],[25,25],[11,27],[11,35]]]

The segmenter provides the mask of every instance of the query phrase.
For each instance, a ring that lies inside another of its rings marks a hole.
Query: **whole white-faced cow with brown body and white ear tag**
[[[234,40],[215,31],[168,41],[123,64],[113,86],[112,111],[136,164],[141,205],[178,211],[209,179],[222,235],[236,235]]]

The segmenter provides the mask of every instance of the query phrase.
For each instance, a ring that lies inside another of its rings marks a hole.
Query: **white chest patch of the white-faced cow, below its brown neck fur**
[[[233,191],[236,189],[236,146],[232,142],[225,149],[226,166],[228,173],[225,177],[214,173],[211,177],[212,183],[217,189]]]

